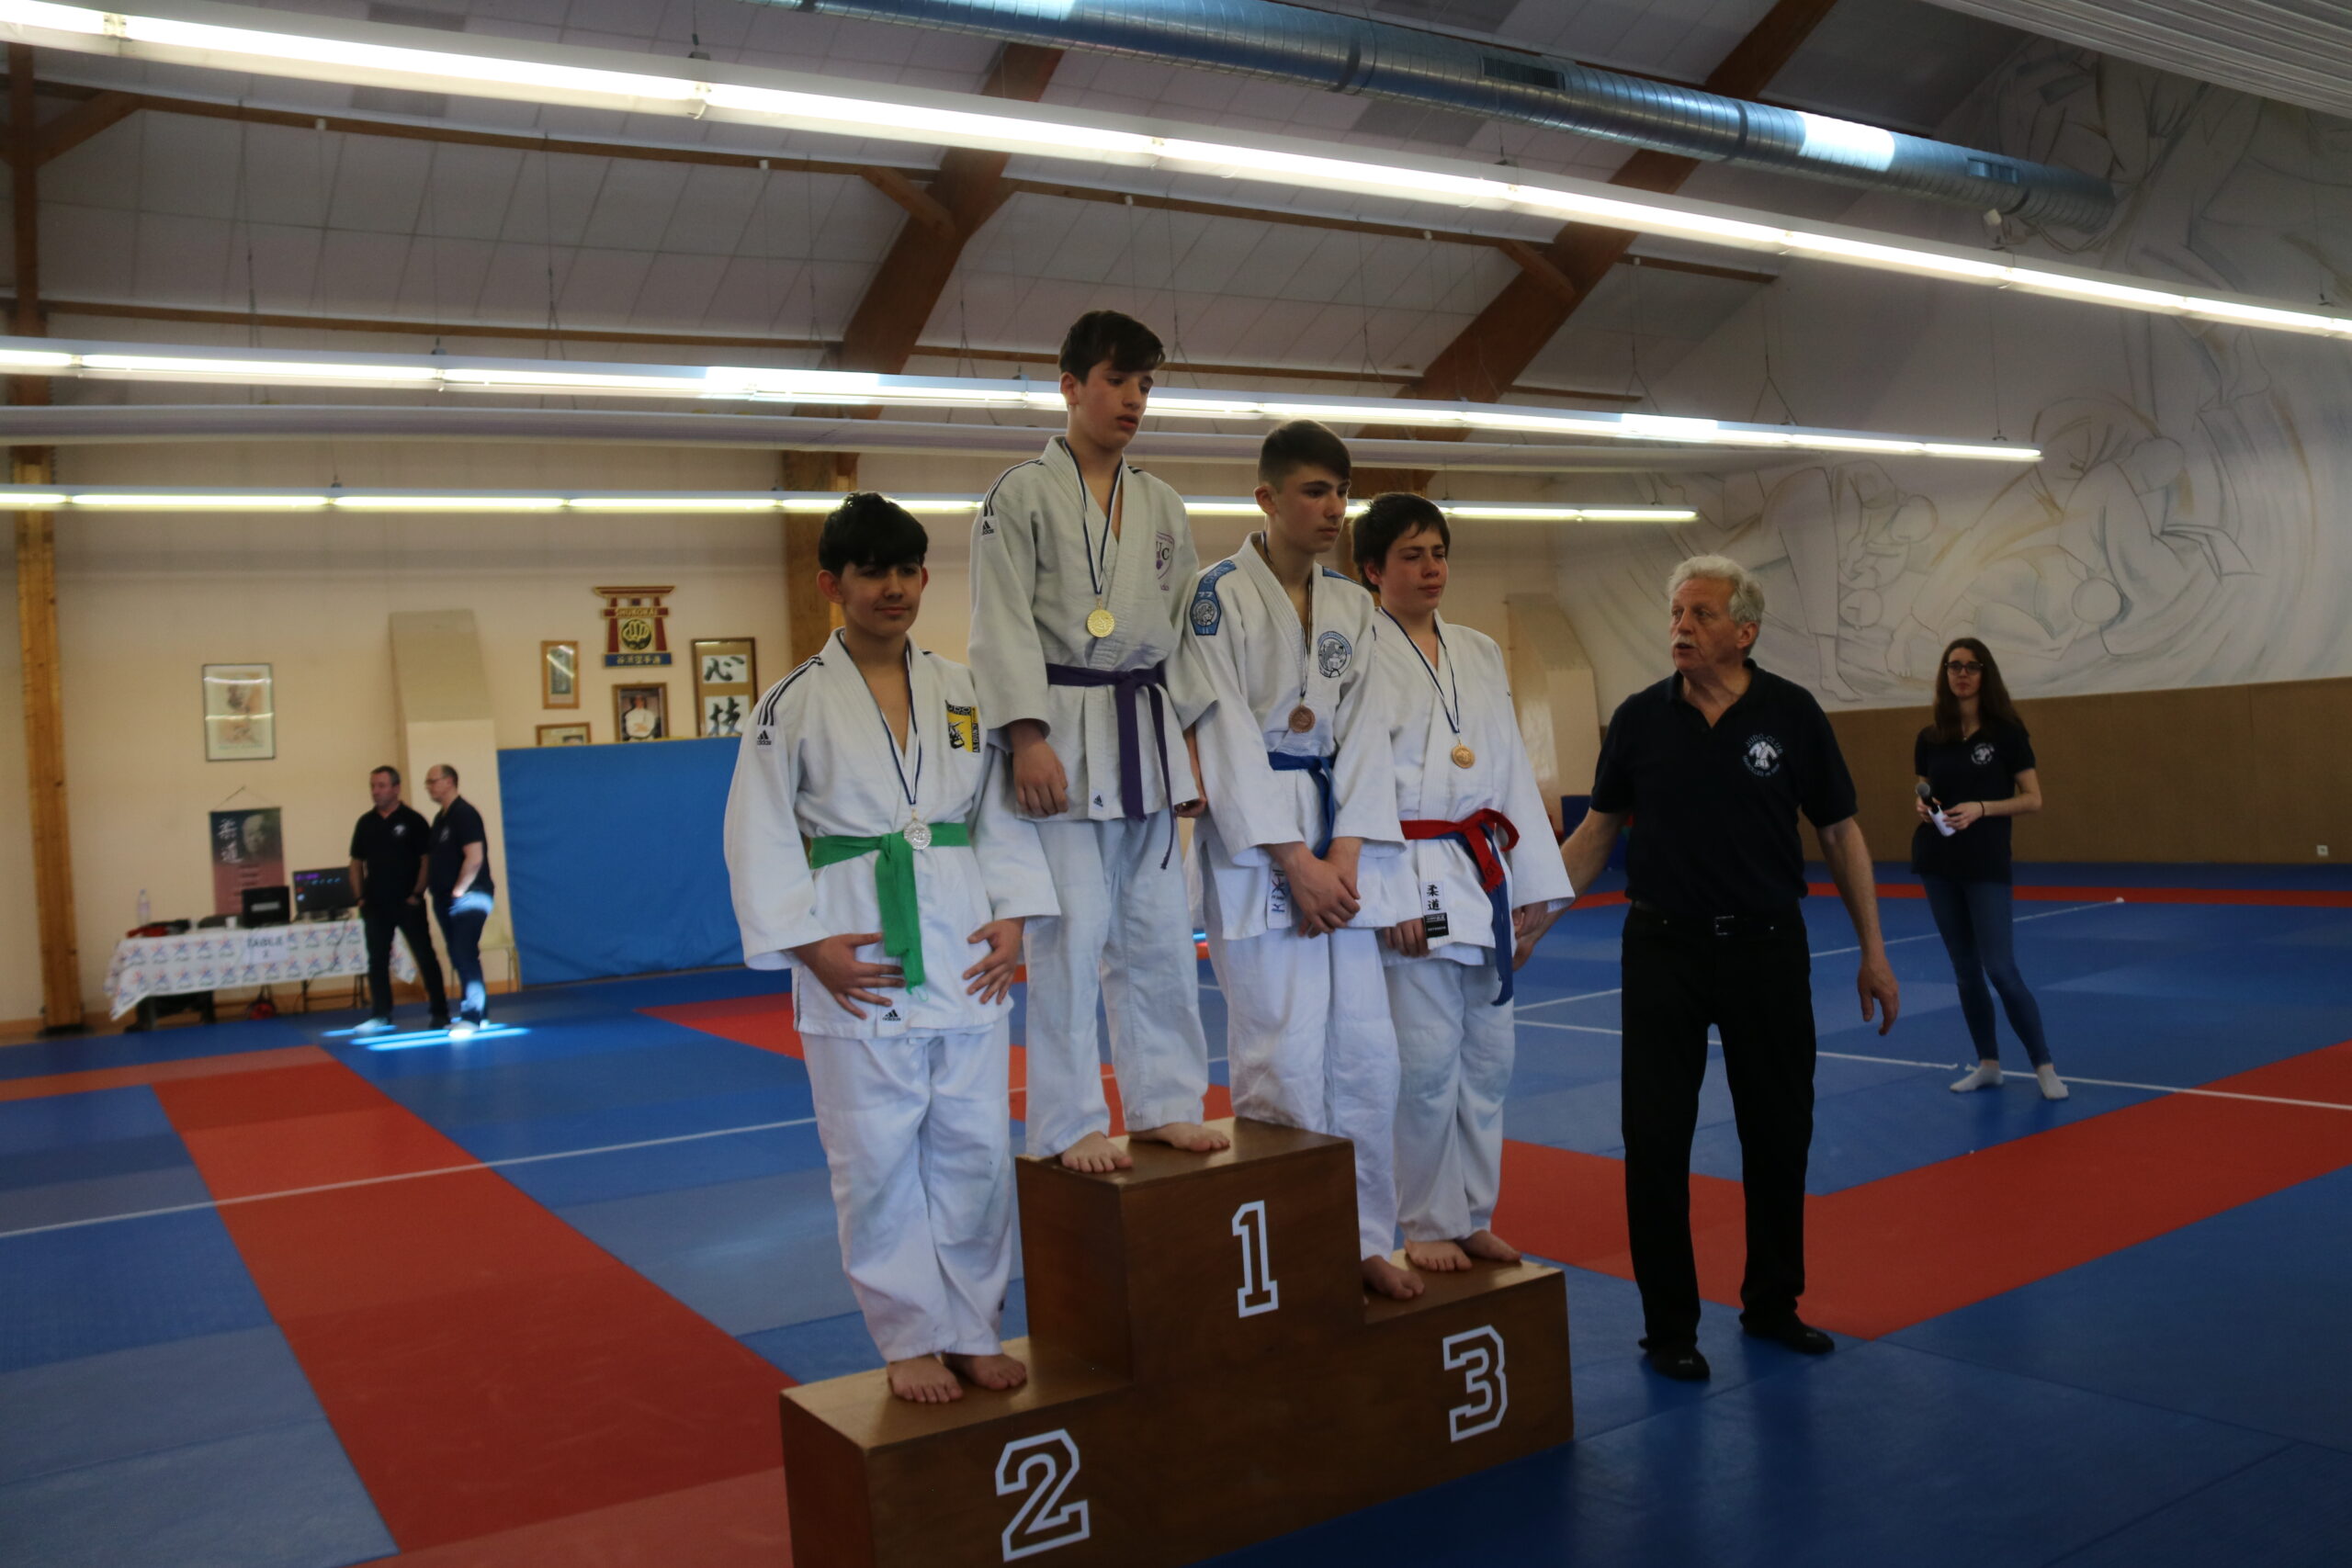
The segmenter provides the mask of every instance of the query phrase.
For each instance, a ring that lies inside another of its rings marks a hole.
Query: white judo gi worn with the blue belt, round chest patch
[[[1195,733],[1209,816],[1192,849],[1209,961],[1225,992],[1232,1110],[1355,1143],[1359,1255],[1374,1258],[1397,1232],[1397,1037],[1378,929],[1409,912],[1374,896],[1399,886],[1374,867],[1402,858],[1404,835],[1374,693],[1371,595],[1336,571],[1317,571],[1310,595],[1312,628],[1301,628],[1254,543],[1192,592],[1185,661],[1214,693]],[[1315,715],[1308,731],[1291,729],[1301,705]],[[1364,839],[1362,907],[1331,936],[1298,936],[1289,882],[1268,856],[1270,844],[1324,846],[1324,795],[1312,771],[1277,771],[1272,757],[1322,759],[1329,835]]]

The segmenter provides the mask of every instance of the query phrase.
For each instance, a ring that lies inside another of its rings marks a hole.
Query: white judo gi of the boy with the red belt
[[[1519,738],[1503,649],[1444,616],[1437,632],[1435,665],[1385,614],[1374,637],[1397,818],[1463,823],[1498,811],[1519,830],[1519,846],[1510,851],[1489,837],[1505,872],[1503,910],[1564,907],[1569,877]],[[1470,748],[1470,766],[1454,766],[1456,745]],[[1385,900],[1409,900],[1430,938],[1421,959],[1381,950],[1402,1063],[1397,1206],[1406,1241],[1458,1241],[1494,1222],[1503,1185],[1503,1095],[1515,1037],[1512,1004],[1496,1006],[1503,976],[1494,952],[1494,898],[1472,853],[1449,837],[1406,844],[1406,853],[1381,872],[1404,882]]]

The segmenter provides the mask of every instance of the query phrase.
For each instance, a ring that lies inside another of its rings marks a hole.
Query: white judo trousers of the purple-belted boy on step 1
[[[1200,1027],[1200,952],[1167,811],[1108,823],[1037,823],[1056,919],[1030,919],[1028,1152],[1061,1154],[1110,1131],[1094,1009],[1110,1023],[1110,1067],[1127,1126],[1200,1121],[1209,1037]]]

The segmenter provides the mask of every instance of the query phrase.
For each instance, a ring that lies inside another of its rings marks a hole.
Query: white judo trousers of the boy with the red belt
[[[1503,1095],[1512,1004],[1494,964],[1446,957],[1381,969],[1397,1025],[1397,1211],[1406,1241],[1461,1241],[1494,1225],[1503,1190]]]

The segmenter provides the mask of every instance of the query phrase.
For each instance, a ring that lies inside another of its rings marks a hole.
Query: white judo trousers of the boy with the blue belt
[[[1397,1246],[1397,1032],[1376,931],[1225,938],[1209,893],[1209,964],[1225,992],[1232,1114],[1355,1145],[1357,1255]]]

